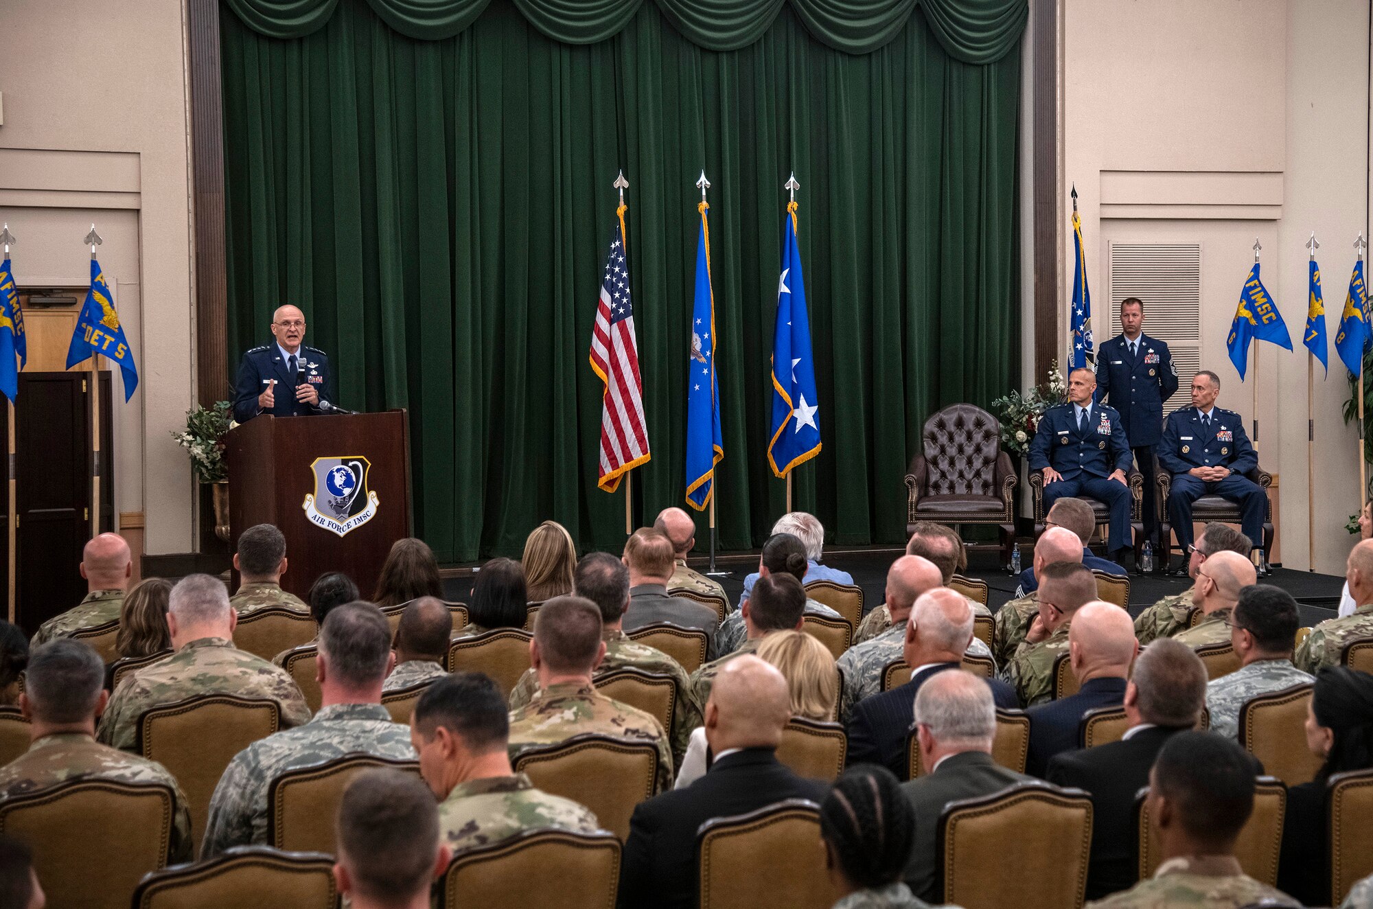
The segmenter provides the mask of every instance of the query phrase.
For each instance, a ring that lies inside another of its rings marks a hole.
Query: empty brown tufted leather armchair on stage
[[[1001,450],[1001,422],[972,404],[951,404],[925,420],[921,452],[906,474],[906,533],[917,520],[997,525],[1001,562],[1009,564],[1016,529],[1011,456]]]

